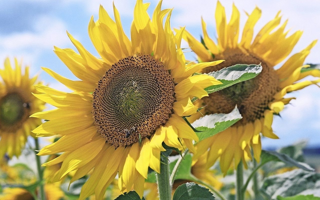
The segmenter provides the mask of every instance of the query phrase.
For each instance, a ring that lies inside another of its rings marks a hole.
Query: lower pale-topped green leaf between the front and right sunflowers
[[[202,132],[197,132],[199,142],[235,124],[242,118],[239,110],[235,107],[230,113],[210,114],[197,119],[192,126]]]

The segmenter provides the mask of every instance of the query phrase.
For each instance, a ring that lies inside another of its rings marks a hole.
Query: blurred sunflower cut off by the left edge
[[[29,78],[28,67],[22,75],[21,64],[17,59],[14,63],[15,69],[6,58],[0,69],[0,158],[21,154],[30,131],[41,124],[41,119],[29,116],[44,109],[44,102],[31,94],[36,92],[33,84],[40,83],[37,76]]]

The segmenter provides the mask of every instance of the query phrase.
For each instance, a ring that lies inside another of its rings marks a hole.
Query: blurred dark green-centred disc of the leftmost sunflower
[[[24,116],[24,100],[17,93],[9,93],[0,100],[0,123],[12,126]]]

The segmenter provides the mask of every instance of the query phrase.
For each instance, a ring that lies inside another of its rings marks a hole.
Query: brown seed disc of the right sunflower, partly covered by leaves
[[[217,56],[218,59],[218,56]],[[236,64],[260,64],[261,73],[253,79],[234,84],[221,91],[209,94],[204,97],[204,105],[208,105],[206,114],[229,113],[237,105],[242,119],[234,126],[245,125],[260,119],[264,111],[268,109],[268,104],[274,99],[274,95],[279,91],[279,78],[276,71],[268,64],[249,53],[231,54],[222,56],[219,59],[226,61],[221,64],[204,69],[204,73],[217,71],[225,67]]]

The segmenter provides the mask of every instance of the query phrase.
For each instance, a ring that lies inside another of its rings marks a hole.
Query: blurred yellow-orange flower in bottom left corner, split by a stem
[[[63,191],[55,184],[44,185],[46,200],[64,200]],[[24,188],[4,188],[1,200],[34,200],[32,194]]]

